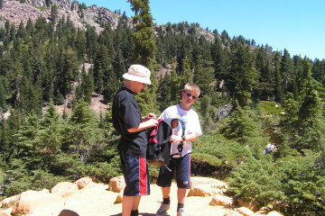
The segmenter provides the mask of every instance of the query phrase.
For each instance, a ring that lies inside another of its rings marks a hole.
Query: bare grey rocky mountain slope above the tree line
[[[28,19],[32,20],[32,23],[40,16],[44,17],[48,22],[51,22],[51,6],[56,4],[58,6],[58,18],[63,15],[70,18],[70,21],[76,28],[86,29],[86,25],[94,26],[97,32],[103,30],[99,23],[110,23],[112,29],[116,29],[120,14],[115,14],[104,7],[98,7],[96,5],[84,6],[78,1],[70,0],[3,0],[3,6],[0,9],[0,26],[5,26],[6,20],[10,23],[14,23],[14,26],[18,28],[21,21],[25,25]],[[122,12],[123,13],[123,12]],[[153,14],[154,18],[154,14]],[[131,18],[130,23],[131,23]],[[159,26],[157,24],[157,26]],[[164,25],[162,25],[164,27]],[[199,35],[204,35],[208,40],[214,40],[214,35],[206,30],[198,27]]]

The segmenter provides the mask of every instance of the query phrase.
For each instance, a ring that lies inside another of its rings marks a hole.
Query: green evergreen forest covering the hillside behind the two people
[[[229,195],[283,215],[324,215],[325,59],[227,31],[207,30],[210,40],[199,23],[153,25],[148,0],[128,2],[135,16],[116,12],[116,29],[100,21],[100,32],[75,28],[55,5],[52,22],[1,27],[0,195],[122,175],[109,107],[136,63],[152,71],[153,84],[135,96],[144,115],[180,102],[186,83],[200,85],[192,175],[224,180]],[[89,108],[94,93],[106,112]],[[276,150],[262,154],[269,143]],[[154,183],[158,168],[150,175]]]

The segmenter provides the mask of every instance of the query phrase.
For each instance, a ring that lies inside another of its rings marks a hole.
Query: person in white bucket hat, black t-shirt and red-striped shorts
[[[146,84],[151,85],[150,70],[141,65],[132,65],[123,77],[125,85],[114,97],[112,119],[114,128],[121,135],[117,148],[125,178],[122,216],[135,216],[138,215],[141,196],[150,194],[145,129],[158,125],[158,121],[153,113],[141,116],[134,96]]]

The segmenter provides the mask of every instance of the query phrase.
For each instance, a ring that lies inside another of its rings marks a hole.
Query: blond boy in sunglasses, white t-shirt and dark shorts
[[[195,140],[202,134],[199,115],[190,108],[190,105],[198,100],[199,95],[200,87],[198,85],[186,84],[181,92],[181,103],[168,107],[159,117],[159,119],[180,118],[185,122],[185,135],[181,136],[181,124],[173,125],[174,129],[170,139],[170,142],[172,142],[172,159],[168,167],[160,167],[156,183],[162,187],[163,191],[163,202],[156,215],[166,215],[170,209],[170,192],[174,172],[178,187],[177,216],[187,215],[184,211],[184,202],[186,190],[190,188],[190,141]],[[178,147],[181,141],[183,146],[180,152]]]

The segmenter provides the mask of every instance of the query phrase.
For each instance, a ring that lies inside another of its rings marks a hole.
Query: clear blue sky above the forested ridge
[[[111,11],[135,15],[126,0],[79,0]],[[153,23],[199,23],[203,29],[226,30],[273,50],[325,59],[324,0],[151,0]]]

